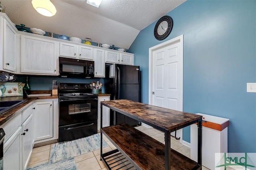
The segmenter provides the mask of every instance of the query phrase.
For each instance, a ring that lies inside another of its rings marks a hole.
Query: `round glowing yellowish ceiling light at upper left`
[[[57,12],[50,0],[32,0],[32,5],[39,14],[44,16],[54,16]]]

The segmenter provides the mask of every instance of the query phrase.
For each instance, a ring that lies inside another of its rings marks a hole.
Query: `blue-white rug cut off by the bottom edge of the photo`
[[[26,170],[76,170],[76,162],[74,158],[70,158],[53,164],[46,162]]]

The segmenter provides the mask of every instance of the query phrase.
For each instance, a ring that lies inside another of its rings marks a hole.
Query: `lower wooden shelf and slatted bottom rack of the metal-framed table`
[[[144,134],[140,130],[127,124],[120,124],[101,129],[104,134],[116,146],[116,150],[101,154],[101,159],[108,169],[117,169],[115,161],[124,156],[123,162],[127,166],[120,169],[137,170],[164,170],[164,144]],[[102,138],[102,136],[101,136]],[[102,152],[101,152],[102,153]],[[118,154],[119,156],[117,156]],[[189,170],[197,166],[197,162],[171,150],[171,170]],[[127,160],[129,163],[127,163]],[[110,164],[110,165],[109,165]],[[125,164],[123,164],[125,165]]]

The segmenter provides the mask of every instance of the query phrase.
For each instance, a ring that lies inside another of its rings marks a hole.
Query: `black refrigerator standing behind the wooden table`
[[[110,100],[128,99],[140,102],[140,66],[106,63],[105,71],[105,92],[111,94]],[[131,126],[141,124],[135,119],[110,110],[110,125],[121,123]]]

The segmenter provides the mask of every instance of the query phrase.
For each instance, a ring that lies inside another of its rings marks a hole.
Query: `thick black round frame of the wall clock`
[[[161,22],[163,21],[166,21],[168,23],[168,28],[167,28],[167,31],[163,34],[163,35],[159,35],[157,33],[157,29],[158,29],[158,26],[160,25]],[[158,20],[158,22],[156,23],[156,26],[154,28],[154,36],[157,40],[164,40],[166,37],[169,36],[169,34],[171,33],[172,31],[172,18],[170,16],[163,16],[162,18],[160,18]]]

